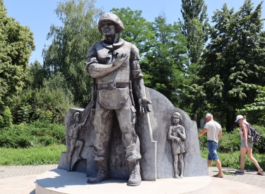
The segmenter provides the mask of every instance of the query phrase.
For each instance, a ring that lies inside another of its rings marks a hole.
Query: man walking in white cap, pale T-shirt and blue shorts
[[[199,133],[199,137],[207,132],[208,140],[208,167],[211,166],[211,162],[216,162],[218,168],[218,174],[213,175],[214,177],[223,178],[222,164],[218,159],[218,154],[216,152],[218,148],[218,141],[222,137],[222,127],[216,121],[213,121],[213,115],[211,113],[206,114],[205,120],[207,123],[204,126],[203,131]]]

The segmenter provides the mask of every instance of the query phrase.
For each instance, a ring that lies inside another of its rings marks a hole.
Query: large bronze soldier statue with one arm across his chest
[[[122,143],[126,148],[126,160],[129,162],[127,185],[139,186],[141,153],[139,137],[135,131],[136,109],[131,90],[139,99],[141,113],[150,111],[148,104],[152,104],[145,97],[139,51],[134,44],[119,37],[124,25],[114,13],[101,16],[98,30],[106,39],[90,47],[86,63],[86,71],[93,78],[93,123],[96,133],[93,154],[98,171],[95,176],[88,178],[88,183],[99,183],[109,176],[107,159],[110,155],[112,115],[116,112],[122,131]]]

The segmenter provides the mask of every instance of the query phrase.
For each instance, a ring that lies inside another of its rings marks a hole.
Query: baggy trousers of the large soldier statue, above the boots
[[[140,141],[135,131],[136,114],[129,98],[123,107],[115,110],[106,109],[97,102],[93,121],[96,134],[93,151],[95,160],[107,159],[110,155],[110,133],[114,111],[122,131],[122,143],[126,148],[126,159],[129,162],[141,159]]]

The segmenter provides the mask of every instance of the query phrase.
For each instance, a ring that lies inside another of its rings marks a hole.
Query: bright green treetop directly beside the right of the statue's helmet
[[[122,39],[135,44],[140,54],[151,48],[152,40],[155,37],[152,23],[141,17],[142,11],[132,11],[130,8],[112,8],[112,13],[116,14],[124,24],[124,31],[120,35]]]

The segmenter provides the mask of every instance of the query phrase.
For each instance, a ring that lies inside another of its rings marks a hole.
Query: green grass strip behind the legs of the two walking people
[[[217,151],[218,152],[218,151]],[[207,159],[208,150],[201,151],[201,157]],[[228,167],[231,169],[240,169],[240,152],[233,153],[221,153],[218,152],[218,157],[223,167]],[[253,157],[257,159],[259,166],[261,169],[265,169],[265,154],[255,154],[253,153]],[[211,163],[211,166],[216,166],[215,162]],[[250,159],[245,157],[245,169],[246,170],[257,170],[256,166],[252,163]]]

